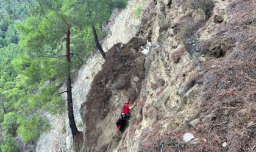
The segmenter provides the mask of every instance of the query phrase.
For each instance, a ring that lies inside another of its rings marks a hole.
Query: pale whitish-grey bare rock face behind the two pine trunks
[[[106,27],[112,34],[102,41],[104,50],[110,49],[116,43],[127,43],[137,33],[135,27],[140,24],[140,19],[133,16],[133,2],[135,1],[128,2],[127,8],[124,10],[115,10]],[[103,63],[104,59],[100,54],[91,54],[87,63],[79,69],[77,77],[73,80],[74,116],[79,131],[84,131],[83,128],[85,128],[79,109],[82,103],[86,101],[91,82],[101,70]],[[63,90],[65,90],[65,86],[63,86]],[[51,120],[52,130],[40,136],[35,151],[74,151],[68,116],[66,114],[49,116],[49,119]]]

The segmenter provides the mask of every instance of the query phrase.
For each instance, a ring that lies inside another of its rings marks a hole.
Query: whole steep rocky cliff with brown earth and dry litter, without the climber
[[[108,24],[107,60],[91,57],[74,83],[80,151],[253,151],[256,3],[137,1],[135,19],[134,2]],[[146,40],[152,47],[143,55]],[[138,105],[120,134],[126,100]],[[73,150],[68,127],[47,135],[62,134],[54,151]]]

